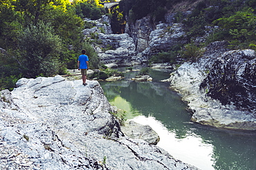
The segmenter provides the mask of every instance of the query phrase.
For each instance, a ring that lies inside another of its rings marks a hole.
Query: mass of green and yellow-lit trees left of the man
[[[83,40],[83,17],[105,13],[98,0],[1,0],[0,89],[11,89],[21,77],[53,76],[74,69],[85,48],[91,67],[97,54]]]

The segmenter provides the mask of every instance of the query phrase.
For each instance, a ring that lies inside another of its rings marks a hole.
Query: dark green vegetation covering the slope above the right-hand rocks
[[[230,49],[256,49],[255,0],[122,0],[120,9],[131,23],[145,16],[149,16],[152,23],[165,22],[168,11],[176,13],[175,22],[183,23],[189,43],[152,56],[153,63],[174,63],[177,54],[195,61],[202,53],[201,47],[213,41],[226,40]],[[191,9],[190,14],[184,14]],[[207,41],[195,44],[194,40],[209,29],[214,31]]]

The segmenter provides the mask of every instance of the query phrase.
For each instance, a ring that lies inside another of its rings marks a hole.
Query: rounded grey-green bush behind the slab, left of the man
[[[39,74],[53,76],[60,70],[58,61],[62,50],[62,41],[54,30],[43,22],[30,25],[24,30],[20,39],[24,59],[24,74],[35,78]]]

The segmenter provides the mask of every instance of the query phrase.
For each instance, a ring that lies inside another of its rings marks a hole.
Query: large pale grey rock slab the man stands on
[[[196,169],[128,138],[98,81],[21,78],[1,91],[0,168]]]

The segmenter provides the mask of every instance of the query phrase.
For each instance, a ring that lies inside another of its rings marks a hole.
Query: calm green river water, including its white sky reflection
[[[256,132],[230,131],[190,123],[181,97],[160,81],[170,72],[152,70],[152,82],[129,81],[138,72],[116,82],[100,82],[112,105],[127,118],[150,125],[160,136],[158,147],[199,169],[256,169]]]

